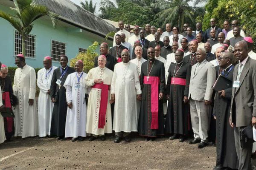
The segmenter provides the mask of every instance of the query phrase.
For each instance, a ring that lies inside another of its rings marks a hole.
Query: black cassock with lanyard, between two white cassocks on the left
[[[66,99],[66,88],[63,87],[67,75],[75,72],[74,68],[67,67],[67,72],[61,79],[61,88],[56,84],[56,81],[61,77],[61,67],[55,69],[52,74],[51,82],[51,98],[55,99],[54,107],[52,110],[52,122],[51,122],[51,135],[52,136],[64,136],[65,125],[67,116],[67,99]],[[65,69],[65,70],[66,70]],[[62,70],[64,73],[64,70]]]

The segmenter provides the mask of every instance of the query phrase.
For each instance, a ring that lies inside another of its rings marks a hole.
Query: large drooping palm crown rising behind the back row
[[[157,17],[165,18],[163,26],[166,23],[171,23],[172,26],[177,24],[179,28],[182,28],[185,18],[189,20],[190,23],[194,23],[194,8],[189,6],[189,1],[191,0],[172,0],[168,8],[160,11]]]

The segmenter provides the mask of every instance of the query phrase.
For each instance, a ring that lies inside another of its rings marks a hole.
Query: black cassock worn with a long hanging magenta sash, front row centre
[[[154,63],[154,65],[153,65]],[[147,72],[151,72],[148,75]],[[144,76],[153,76],[160,78],[158,86],[158,93],[165,92],[165,70],[163,62],[155,59],[154,62],[144,62],[141,66],[140,85],[142,88],[142,101],[140,105],[140,116],[138,123],[138,131],[140,136],[156,137],[157,135],[164,135],[164,119],[163,119],[163,99],[158,100],[158,129],[151,129],[151,85],[144,84]]]

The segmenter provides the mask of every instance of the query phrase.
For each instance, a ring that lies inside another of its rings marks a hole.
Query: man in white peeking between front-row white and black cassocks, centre
[[[143,49],[142,49],[141,46],[136,46],[135,50],[134,50],[134,53],[136,55],[136,58],[132,59],[131,62],[134,63],[135,65],[137,65],[137,70],[138,70],[139,77],[140,77],[141,65],[142,65],[143,62],[146,62],[147,60],[142,57]],[[137,118],[139,119],[141,101],[136,100],[136,102],[137,102]]]

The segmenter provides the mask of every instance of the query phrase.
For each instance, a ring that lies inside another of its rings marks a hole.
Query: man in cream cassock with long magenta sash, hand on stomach
[[[86,133],[90,136],[89,141],[100,138],[106,140],[105,133],[112,133],[112,117],[110,89],[113,71],[106,68],[105,55],[98,57],[98,67],[90,69],[85,78],[85,84],[90,87]]]

